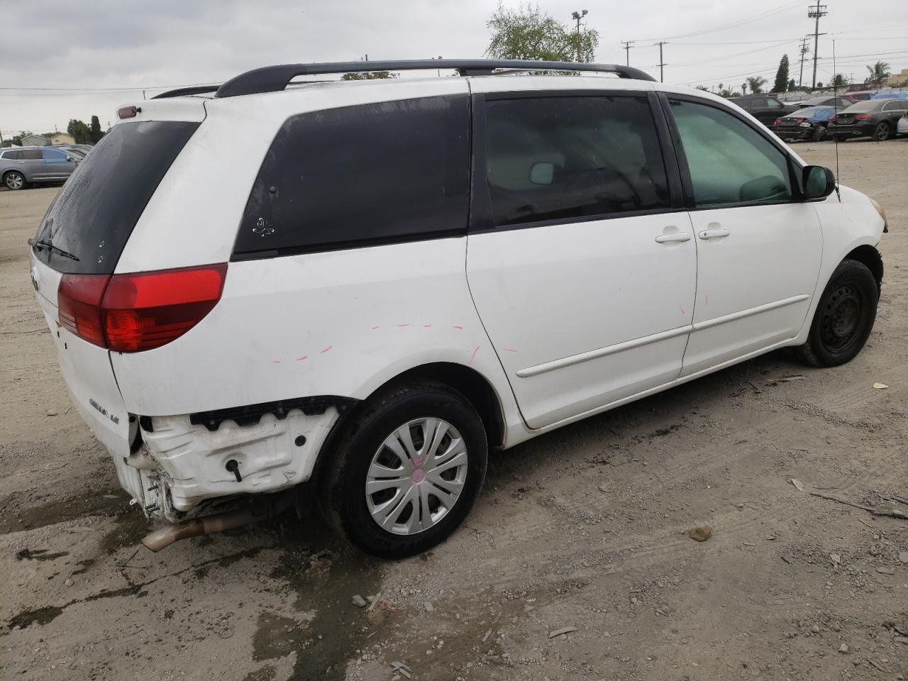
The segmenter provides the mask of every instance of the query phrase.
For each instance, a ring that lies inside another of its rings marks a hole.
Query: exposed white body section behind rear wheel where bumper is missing
[[[331,429],[354,401],[301,398],[141,417],[141,438],[123,458],[134,481],[127,489],[141,490],[136,501],[149,518],[168,522],[222,509],[242,495],[289,489],[311,478]]]

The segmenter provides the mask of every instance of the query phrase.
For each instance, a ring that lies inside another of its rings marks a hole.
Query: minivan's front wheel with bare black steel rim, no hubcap
[[[797,349],[801,359],[814,367],[854,360],[873,331],[879,298],[873,273],[863,262],[840,262],[816,306],[807,342]]]

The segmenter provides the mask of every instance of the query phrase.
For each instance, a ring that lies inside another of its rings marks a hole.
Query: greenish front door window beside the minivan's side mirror
[[[754,128],[715,106],[672,101],[697,206],[792,199],[788,159]]]

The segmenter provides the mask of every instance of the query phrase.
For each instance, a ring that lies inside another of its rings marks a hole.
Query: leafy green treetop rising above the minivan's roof
[[[561,24],[538,5],[516,10],[498,5],[486,23],[492,32],[486,54],[494,59],[544,59],[554,62],[592,62],[599,34],[581,28],[579,34]]]

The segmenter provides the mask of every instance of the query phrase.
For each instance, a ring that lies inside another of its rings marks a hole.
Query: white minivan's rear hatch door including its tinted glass
[[[135,426],[124,407],[110,352],[103,337],[86,340],[73,317],[61,315],[58,293],[61,281],[93,281],[103,287],[113,274],[145,205],[204,118],[202,101],[192,104],[196,111],[189,117],[197,120],[115,125],[57,193],[31,253],[32,285],[73,403],[114,456],[121,483],[130,491],[136,482],[123,457],[129,454]]]

